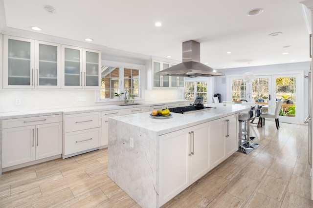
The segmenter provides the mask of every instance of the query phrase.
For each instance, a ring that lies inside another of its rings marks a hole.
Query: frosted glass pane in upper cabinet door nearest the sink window
[[[99,86],[99,53],[86,51],[85,86]]]

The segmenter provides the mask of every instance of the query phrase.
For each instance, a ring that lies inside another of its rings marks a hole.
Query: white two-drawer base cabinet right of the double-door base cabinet
[[[64,116],[63,158],[99,149],[101,146],[100,112]]]

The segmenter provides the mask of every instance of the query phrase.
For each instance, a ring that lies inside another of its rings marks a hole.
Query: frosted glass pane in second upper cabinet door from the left
[[[36,69],[37,70],[37,69]],[[39,44],[39,85],[58,85],[58,47]]]

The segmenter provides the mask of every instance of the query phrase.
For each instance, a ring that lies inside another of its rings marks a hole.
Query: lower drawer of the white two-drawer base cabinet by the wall
[[[64,154],[66,156],[68,154],[99,147],[100,139],[100,127],[66,133],[64,137]]]

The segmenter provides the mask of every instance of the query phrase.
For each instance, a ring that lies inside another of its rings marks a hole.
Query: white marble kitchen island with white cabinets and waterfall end
[[[238,113],[216,108],[156,119],[150,112],[109,119],[109,177],[143,208],[174,198],[238,150]]]

